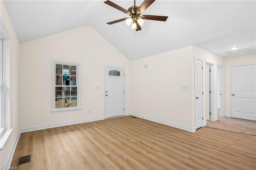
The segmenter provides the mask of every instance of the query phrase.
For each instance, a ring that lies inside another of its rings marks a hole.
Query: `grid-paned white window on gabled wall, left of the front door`
[[[52,61],[52,111],[80,109],[79,64]]]

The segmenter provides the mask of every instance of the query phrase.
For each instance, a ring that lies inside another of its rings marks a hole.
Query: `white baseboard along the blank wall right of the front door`
[[[161,123],[161,124],[168,125],[168,126],[171,126],[171,127],[180,128],[182,130],[186,130],[186,131],[189,131],[189,132],[195,132],[196,131],[196,128],[190,128],[190,127],[186,127],[186,126],[183,126],[183,125],[177,125],[177,124],[171,123],[171,122],[161,121],[159,119],[146,117],[146,116],[143,116],[143,115],[140,115],[140,114],[137,114],[137,113],[129,113],[129,114],[132,115],[132,116],[140,117],[142,119],[146,119],[146,120],[153,121],[153,122],[156,122],[156,123]]]

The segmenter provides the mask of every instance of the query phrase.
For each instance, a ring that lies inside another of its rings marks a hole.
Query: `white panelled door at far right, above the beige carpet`
[[[231,117],[256,121],[256,65],[231,67]]]

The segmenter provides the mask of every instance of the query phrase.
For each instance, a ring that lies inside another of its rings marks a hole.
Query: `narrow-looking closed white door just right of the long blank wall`
[[[203,62],[195,59],[195,128],[203,126]]]

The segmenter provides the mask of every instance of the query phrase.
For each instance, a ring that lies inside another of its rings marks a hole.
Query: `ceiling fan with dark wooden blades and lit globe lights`
[[[144,24],[144,20],[156,20],[156,21],[166,21],[168,16],[155,16],[155,15],[142,15],[142,12],[144,12],[155,0],[144,0],[140,7],[135,5],[135,0],[134,0],[134,6],[128,8],[128,10],[118,6],[117,4],[111,2],[110,0],[105,1],[105,4],[108,4],[128,15],[130,15],[130,18],[122,18],[120,20],[115,20],[112,22],[108,22],[107,24],[115,24],[117,22],[121,22],[125,20],[126,25],[130,26],[132,24],[131,29],[140,31],[141,26]],[[143,20],[144,19],[144,20]]]

